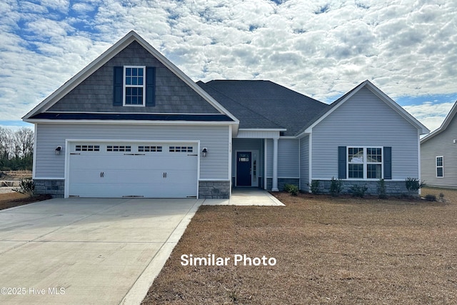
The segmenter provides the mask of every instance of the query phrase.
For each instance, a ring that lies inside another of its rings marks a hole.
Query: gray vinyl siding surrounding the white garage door
[[[65,140],[199,141],[209,153],[200,158],[200,179],[229,180],[229,126],[141,126],[102,124],[38,124],[36,169],[39,179],[64,178]],[[61,154],[55,149],[62,146]]]

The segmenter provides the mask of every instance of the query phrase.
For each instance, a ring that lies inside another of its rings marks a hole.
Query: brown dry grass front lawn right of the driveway
[[[457,191],[444,193],[444,204],[280,193],[286,206],[201,206],[144,304],[456,304]],[[181,266],[182,254],[277,264]]]

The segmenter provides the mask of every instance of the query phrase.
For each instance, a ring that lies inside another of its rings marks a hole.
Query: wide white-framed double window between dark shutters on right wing
[[[383,149],[381,147],[348,147],[348,178],[383,178]]]

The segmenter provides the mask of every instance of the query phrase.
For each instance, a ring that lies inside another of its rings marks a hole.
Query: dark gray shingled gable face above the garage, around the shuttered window
[[[114,106],[114,67],[117,66],[146,66],[155,69],[154,106]],[[131,42],[47,111],[220,114],[137,41]]]

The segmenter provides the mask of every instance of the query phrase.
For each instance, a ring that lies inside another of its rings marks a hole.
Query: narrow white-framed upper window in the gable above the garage
[[[145,106],[145,66],[124,66],[124,106]]]

